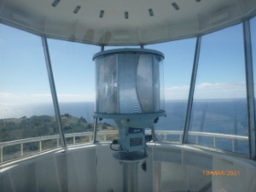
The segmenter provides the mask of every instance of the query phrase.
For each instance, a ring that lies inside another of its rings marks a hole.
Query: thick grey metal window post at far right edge
[[[243,20],[245,68],[247,81],[247,113],[248,113],[248,134],[249,134],[249,155],[256,160],[256,131],[255,131],[255,105],[253,88],[253,56],[251,44],[251,31],[249,20]]]

